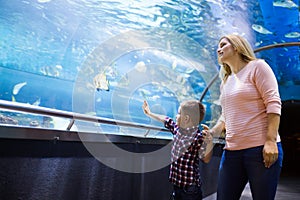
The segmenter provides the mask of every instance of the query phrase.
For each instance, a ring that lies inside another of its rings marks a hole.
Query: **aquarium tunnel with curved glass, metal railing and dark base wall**
[[[299,0],[0,0],[0,199],[168,200],[172,134],[147,117],[201,101],[220,117],[216,49],[245,37],[276,75],[300,180]],[[216,192],[224,135],[200,163]]]

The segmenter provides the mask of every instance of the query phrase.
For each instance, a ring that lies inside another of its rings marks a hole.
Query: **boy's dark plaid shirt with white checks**
[[[201,131],[198,127],[180,129],[169,117],[165,119],[165,127],[174,135],[169,181],[181,188],[192,184],[200,186],[199,152],[202,151],[203,143]]]

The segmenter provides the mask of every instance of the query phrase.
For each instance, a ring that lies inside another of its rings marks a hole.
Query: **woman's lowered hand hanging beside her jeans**
[[[277,143],[266,141],[263,149],[265,167],[270,168],[278,159]]]

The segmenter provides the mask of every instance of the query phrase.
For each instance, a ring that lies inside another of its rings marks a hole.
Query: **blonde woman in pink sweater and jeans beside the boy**
[[[238,200],[247,182],[254,200],[274,199],[283,151],[278,134],[281,99],[270,66],[241,36],[219,40],[222,114],[209,131],[226,131],[217,199]]]

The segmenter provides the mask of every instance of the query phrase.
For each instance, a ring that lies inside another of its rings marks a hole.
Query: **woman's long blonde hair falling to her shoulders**
[[[248,63],[256,59],[252,47],[250,46],[248,41],[242,36],[235,35],[235,34],[225,35],[220,38],[219,42],[224,38],[229,41],[229,43],[238,52],[238,54],[240,55],[243,61]],[[218,62],[221,65],[220,77],[225,82],[228,76],[232,73],[232,71],[229,65],[222,63],[219,59]]]

